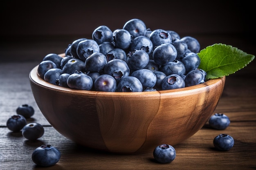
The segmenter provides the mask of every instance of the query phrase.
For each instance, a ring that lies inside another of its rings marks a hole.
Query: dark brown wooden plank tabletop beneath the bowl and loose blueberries
[[[231,44],[249,54],[256,54],[254,44],[236,36],[198,35],[202,47],[222,42]],[[61,42],[61,43],[59,43]],[[226,114],[231,123],[225,130],[209,128],[208,123],[195,135],[175,145],[177,152],[173,162],[157,163],[153,152],[140,155],[117,155],[79,146],[58,133],[40,112],[29,85],[29,71],[39,64],[47,53],[62,53],[68,39],[50,39],[41,42],[5,43],[0,48],[0,170],[46,169],[36,166],[31,159],[35,148],[50,144],[61,151],[61,159],[47,169],[54,170],[131,170],[131,169],[256,169],[256,61],[226,78],[222,97],[214,113]],[[54,48],[52,45],[55,44]],[[22,56],[22,57],[20,57]],[[16,114],[21,104],[34,107],[35,114],[28,122],[38,122],[45,128],[43,137],[30,142],[21,132],[11,132],[6,121]],[[213,148],[213,139],[221,133],[231,135],[235,144],[226,152]]]

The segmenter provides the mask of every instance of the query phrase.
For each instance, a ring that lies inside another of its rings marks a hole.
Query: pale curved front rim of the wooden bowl
[[[189,86],[189,87],[184,87],[184,88],[176,88],[176,89],[171,89],[171,90],[162,90],[162,91],[142,91],[142,92],[104,92],[104,91],[87,91],[87,90],[77,90],[77,89],[72,89],[72,88],[67,88],[67,87],[62,87],[62,86],[57,86],[55,84],[51,84],[49,82],[46,82],[43,80],[37,73],[38,66],[35,66],[32,68],[32,70],[29,73],[29,79],[31,82],[34,84],[37,84],[38,86],[41,86],[43,88],[48,88],[52,89],[54,91],[63,91],[67,93],[79,93],[79,94],[87,94],[87,95],[155,95],[155,94],[172,94],[174,95],[175,93],[191,93],[191,92],[196,92],[196,91],[201,91],[204,88],[211,88],[211,86],[215,86],[216,83],[221,84],[221,82],[225,83],[225,78],[226,76],[216,78],[216,79],[209,79],[204,83],[194,85],[194,86]]]

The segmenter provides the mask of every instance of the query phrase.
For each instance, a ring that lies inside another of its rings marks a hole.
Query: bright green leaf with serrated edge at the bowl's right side
[[[226,44],[207,46],[197,54],[201,60],[198,68],[206,71],[206,79],[215,79],[233,74],[255,58],[254,55],[247,54]]]

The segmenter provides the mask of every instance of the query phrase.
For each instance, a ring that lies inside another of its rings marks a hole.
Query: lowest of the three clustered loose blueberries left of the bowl
[[[22,136],[29,140],[36,140],[43,136],[45,130],[41,124],[29,123],[22,128]]]

